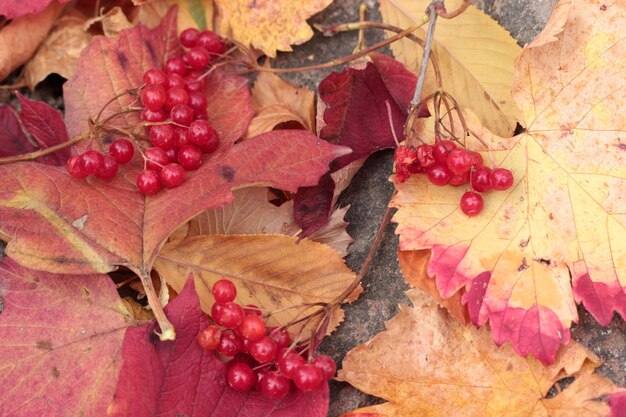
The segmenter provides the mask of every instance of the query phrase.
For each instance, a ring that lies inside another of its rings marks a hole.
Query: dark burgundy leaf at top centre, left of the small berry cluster
[[[409,102],[417,79],[402,64],[372,54],[364,68],[334,72],[319,86],[325,126],[320,137],[348,146],[353,152],[331,165],[331,172],[402,140]],[[324,177],[315,187],[301,188],[294,197],[294,216],[308,236],[328,222],[334,181]]]

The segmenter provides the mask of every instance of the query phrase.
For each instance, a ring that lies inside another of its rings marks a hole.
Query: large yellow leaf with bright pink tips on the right
[[[555,14],[563,26],[547,27],[517,62],[526,132],[500,138],[466,113],[513,186],[485,194],[472,218],[459,209],[464,190],[424,178],[399,185],[392,203],[400,249],[432,249],[441,295],[465,291],[474,323],[489,321],[497,343],[544,363],[569,341],[576,301],[603,325],[626,317],[626,42],[614,30],[626,15],[593,1],[562,1]]]

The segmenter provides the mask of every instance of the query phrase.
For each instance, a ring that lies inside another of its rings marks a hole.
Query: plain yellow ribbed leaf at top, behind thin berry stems
[[[406,28],[419,22],[430,0],[381,0],[385,23]],[[461,0],[446,2],[454,10]],[[424,39],[425,32],[416,32]],[[419,72],[423,49],[411,40],[391,45],[396,59]],[[495,20],[470,5],[454,19],[438,19],[432,54],[439,63],[443,89],[461,107],[472,108],[480,120],[500,136],[510,136],[522,115],[511,96],[513,62],[521,48]],[[424,92],[436,89],[432,66],[426,73]]]

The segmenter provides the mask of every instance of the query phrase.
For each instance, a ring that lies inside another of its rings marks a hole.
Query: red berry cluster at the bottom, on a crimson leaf
[[[272,399],[286,396],[291,384],[303,392],[312,391],[335,375],[335,361],[327,355],[308,360],[303,346],[294,346],[283,327],[268,328],[258,307],[234,302],[235,285],[221,279],[213,285],[215,324],[198,334],[198,343],[207,351],[232,358],[226,379],[235,391],[252,388]]]

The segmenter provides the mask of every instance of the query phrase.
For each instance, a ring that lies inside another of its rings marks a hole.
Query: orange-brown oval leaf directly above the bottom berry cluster
[[[206,312],[213,305],[213,284],[227,277],[237,286],[238,303],[276,311],[269,322],[286,325],[320,308],[311,304],[335,300],[355,278],[333,249],[309,240],[296,242],[281,235],[201,235],[166,244],[155,266],[177,291],[192,273]],[[342,319],[343,311],[335,309],[328,330]],[[317,323],[313,320],[310,326]],[[298,324],[290,331],[300,328]]]

